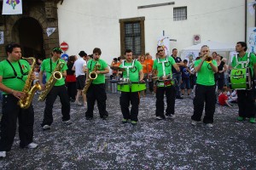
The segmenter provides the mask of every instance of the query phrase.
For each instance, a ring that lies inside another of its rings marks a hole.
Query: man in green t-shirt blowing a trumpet
[[[197,122],[201,122],[204,103],[206,103],[203,122],[207,127],[212,127],[213,115],[215,112],[216,95],[214,73],[218,72],[216,60],[207,62],[209,59],[210,50],[207,45],[201,47],[201,59],[195,60],[195,72],[197,72],[195,99],[194,99],[194,114],[191,116],[192,125],[196,126]]]

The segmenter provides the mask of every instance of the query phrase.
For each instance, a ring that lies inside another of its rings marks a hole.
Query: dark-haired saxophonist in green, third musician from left
[[[87,111],[85,112],[86,120],[93,118],[93,110],[95,101],[99,109],[100,117],[105,120],[108,117],[108,111],[106,111],[107,94],[105,91],[105,74],[109,72],[107,63],[100,59],[102,50],[100,48],[93,49],[93,59],[90,59],[87,63],[86,82],[90,81],[90,73],[95,70],[96,65],[100,65],[96,69],[96,79],[92,80],[90,87],[87,90]],[[86,83],[85,83],[86,84]],[[85,85],[86,86],[86,85]]]

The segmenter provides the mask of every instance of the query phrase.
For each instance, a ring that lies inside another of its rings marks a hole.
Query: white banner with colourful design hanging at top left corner
[[[22,14],[22,0],[3,0],[2,14]]]

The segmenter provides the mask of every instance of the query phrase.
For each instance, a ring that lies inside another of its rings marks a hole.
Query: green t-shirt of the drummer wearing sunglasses
[[[166,61],[166,59],[167,59],[167,62],[165,63],[166,76],[171,75],[171,77],[172,77],[172,65],[174,65],[176,62],[170,56],[167,56],[165,59],[159,59],[160,62],[158,61],[158,59],[154,59],[153,69],[157,70],[157,72],[158,72],[157,77],[164,76],[162,61]]]

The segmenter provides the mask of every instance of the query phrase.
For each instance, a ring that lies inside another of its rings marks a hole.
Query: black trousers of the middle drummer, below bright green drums
[[[129,106],[131,103],[131,111]],[[120,96],[121,111],[125,119],[137,122],[138,105],[140,103],[139,92],[122,92]]]

